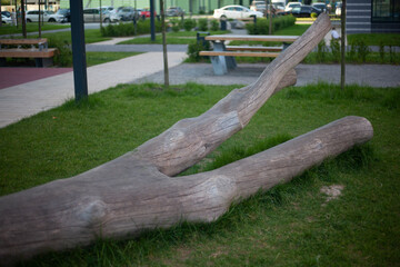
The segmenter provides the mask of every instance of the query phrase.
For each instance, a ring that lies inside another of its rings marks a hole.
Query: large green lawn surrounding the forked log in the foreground
[[[236,87],[160,88],[120,85],[79,106],[69,101],[0,129],[0,194],[114,159],[178,120],[199,116]],[[286,88],[188,174],[224,155],[240,157],[266,140],[286,140],[350,115],[371,121],[374,137],[368,145],[233,205],[216,222],[99,240],[22,266],[398,266],[400,88]],[[326,202],[320,189],[330,185],[343,190]]]

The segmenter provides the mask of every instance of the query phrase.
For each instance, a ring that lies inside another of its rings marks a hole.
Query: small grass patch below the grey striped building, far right
[[[362,40],[367,46],[396,46],[400,47],[399,33],[354,33],[348,34],[349,43]]]

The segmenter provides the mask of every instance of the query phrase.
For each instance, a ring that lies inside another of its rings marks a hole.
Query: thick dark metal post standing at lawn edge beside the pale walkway
[[[76,102],[79,102],[88,98],[82,0],[70,0],[70,8],[74,93]]]

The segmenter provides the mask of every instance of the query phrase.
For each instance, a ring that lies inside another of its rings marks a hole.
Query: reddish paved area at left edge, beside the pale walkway
[[[0,68],[0,89],[72,71],[72,68]]]

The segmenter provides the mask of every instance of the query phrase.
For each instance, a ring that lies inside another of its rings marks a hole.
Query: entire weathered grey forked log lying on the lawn
[[[346,117],[213,171],[171,177],[242,129],[329,29],[328,16],[321,14],[253,85],[136,150],[76,177],[1,197],[0,263],[88,245],[98,237],[128,238],[182,220],[216,220],[232,201],[372,138],[367,119]]]

